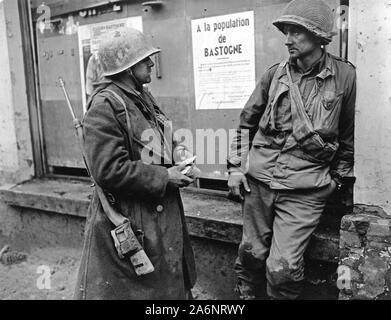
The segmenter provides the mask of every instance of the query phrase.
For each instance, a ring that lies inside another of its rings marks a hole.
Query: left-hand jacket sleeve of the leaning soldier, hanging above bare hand
[[[259,121],[265,112],[270,84],[277,66],[272,67],[263,75],[240,115],[239,128],[232,140],[227,161],[229,172],[246,171],[248,153],[258,131]]]

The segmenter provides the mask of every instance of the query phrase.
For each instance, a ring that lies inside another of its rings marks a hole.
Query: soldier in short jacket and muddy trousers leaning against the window
[[[297,299],[304,258],[327,199],[354,183],[354,67],[329,54],[334,16],[293,0],[274,25],[289,59],[263,75],[244,107],[228,159],[244,200],[235,270],[242,299]]]

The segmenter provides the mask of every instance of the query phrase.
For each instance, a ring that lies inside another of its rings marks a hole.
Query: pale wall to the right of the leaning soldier
[[[350,15],[358,76],[355,203],[391,215],[391,1],[351,0]]]

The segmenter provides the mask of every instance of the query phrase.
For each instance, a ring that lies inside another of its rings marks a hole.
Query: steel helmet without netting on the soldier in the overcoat
[[[98,57],[103,75],[112,76],[158,52],[160,49],[154,48],[142,32],[124,27],[103,36]]]

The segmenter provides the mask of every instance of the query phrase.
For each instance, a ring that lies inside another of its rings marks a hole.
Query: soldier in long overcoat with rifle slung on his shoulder
[[[132,28],[108,33],[98,51],[104,78],[83,121],[85,155],[94,181],[131,221],[153,273],[137,276],[117,255],[96,191],[89,208],[76,299],[186,299],[195,263],[179,188],[193,178],[174,166],[172,128],[144,86],[151,82],[154,48]]]

